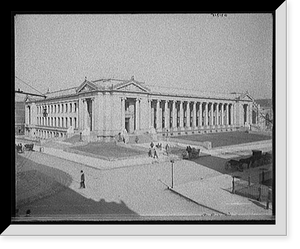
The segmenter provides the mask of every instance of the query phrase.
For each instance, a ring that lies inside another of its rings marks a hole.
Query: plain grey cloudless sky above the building
[[[101,78],[272,97],[272,14],[15,16],[15,88]],[[21,80],[19,80],[21,79]]]

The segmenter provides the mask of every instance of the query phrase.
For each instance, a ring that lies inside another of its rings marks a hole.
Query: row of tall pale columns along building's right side
[[[161,131],[234,126],[235,103],[196,100],[149,99],[150,125]]]

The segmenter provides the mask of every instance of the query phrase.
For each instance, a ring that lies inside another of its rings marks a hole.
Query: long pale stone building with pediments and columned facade
[[[147,86],[131,77],[85,79],[78,87],[27,98],[25,133],[39,138],[80,134],[109,141],[118,134],[224,132],[257,123],[248,93],[205,93]]]

